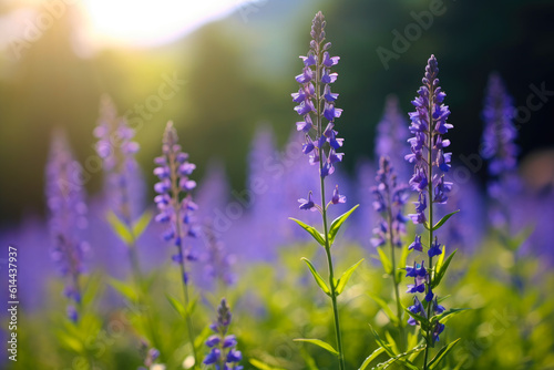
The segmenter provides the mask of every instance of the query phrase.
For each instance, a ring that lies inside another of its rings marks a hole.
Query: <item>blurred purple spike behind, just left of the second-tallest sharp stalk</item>
[[[398,97],[390,94],[384,103],[382,119],[377,125],[376,157],[388,156],[392,168],[402,181],[408,181],[410,172],[404,161],[404,156],[410,153],[404,145],[409,135],[408,123],[400,111]]]

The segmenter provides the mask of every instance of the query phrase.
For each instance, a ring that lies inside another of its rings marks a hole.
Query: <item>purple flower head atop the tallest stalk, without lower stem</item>
[[[320,164],[321,177],[332,174],[334,165],[341,162],[343,156],[343,153],[337,153],[343,140],[337,137],[338,132],[335,130],[335,119],[340,116],[342,110],[335,106],[339,94],[331,92],[331,84],[338,76],[331,72],[331,66],[338,64],[340,58],[329,56],[330,42],[322,44],[325,25],[325,17],[318,12],[311,24],[310,50],[307,56],[300,56],[304,70],[296,76],[300,88],[297,93],[291,94],[293,101],[298,103],[295,111],[304,119],[296,123],[297,130],[306,136],[302,152],[309,155],[310,164]],[[328,121],[325,130],[324,117]],[[326,143],[328,143],[327,153],[324,150]]]

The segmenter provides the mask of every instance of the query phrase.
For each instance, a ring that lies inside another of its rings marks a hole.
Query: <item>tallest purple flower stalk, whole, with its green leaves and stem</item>
[[[331,199],[327,203],[325,196],[325,179],[327,176],[335,172],[335,164],[342,161],[343,153],[337,153],[342,146],[343,140],[337,137],[338,132],[335,130],[335,120],[340,116],[342,110],[335,106],[335,102],[338,97],[337,93],[331,92],[331,84],[337,80],[338,74],[331,72],[331,66],[339,62],[339,56],[329,56],[328,50],[331,47],[330,42],[324,44],[325,41],[325,27],[326,21],[321,12],[318,12],[314,18],[311,23],[311,41],[310,49],[306,56],[300,56],[304,61],[302,73],[296,76],[296,81],[300,84],[297,93],[293,93],[293,101],[298,103],[295,111],[304,119],[301,122],[297,122],[296,126],[299,132],[305,135],[305,144],[302,146],[302,152],[309,155],[309,163],[312,165],[319,165],[319,177],[320,177],[320,199],[321,204],[316,204],[312,201],[312,192],[309,192],[308,198],[301,198],[300,209],[311,209],[319,210],[322,217],[324,233],[317,232],[315,227],[308,226],[300,220],[297,222],[304,229],[314,236],[314,238],[325,248],[328,265],[328,286],[321,278],[319,273],[317,273],[314,265],[305,258],[308,267],[316,278],[319,287],[326,292],[332,305],[332,314],[335,321],[335,333],[336,333],[336,345],[337,349],[330,350],[338,357],[339,369],[345,369],[345,357],[342,348],[342,338],[340,333],[340,319],[337,305],[337,297],[340,295],[345,288],[353,269],[361,263],[352,266],[340,279],[335,278],[335,270],[332,266],[331,258],[331,246],[335,240],[335,236],[342,225],[345,219],[353,212],[352,208],[348,213],[338,217],[329,226],[328,224],[328,207],[331,204],[345,203],[346,197],[339,193],[338,186],[335,187],[334,195]],[[325,125],[325,121],[327,125]],[[316,340],[301,339],[312,343],[318,343]],[[329,346],[329,345],[327,345]],[[329,346],[330,347],[330,346]],[[332,347],[331,347],[332,348]]]

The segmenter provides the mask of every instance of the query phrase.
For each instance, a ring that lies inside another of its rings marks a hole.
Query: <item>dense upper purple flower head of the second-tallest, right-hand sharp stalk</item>
[[[416,214],[408,216],[414,224],[427,222],[428,202],[444,204],[448,201],[447,194],[452,189],[452,183],[444,181],[444,173],[450,168],[452,156],[452,153],[445,153],[444,148],[450,145],[450,141],[442,136],[453,126],[447,123],[450,110],[448,105],[442,104],[447,94],[439,86],[438,74],[437,59],[431,55],[422,80],[423,86],[418,91],[419,96],[412,101],[416,112],[410,113],[410,132],[413,137],[408,142],[412,153],[408,154],[406,160],[414,166],[409,184],[419,194],[418,202],[414,203]],[[428,199],[428,196],[431,199]],[[429,249],[429,256],[434,255],[437,249]]]

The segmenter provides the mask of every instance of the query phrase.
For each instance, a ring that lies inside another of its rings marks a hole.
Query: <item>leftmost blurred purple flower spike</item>
[[[49,226],[53,240],[52,259],[65,279],[64,295],[72,301],[68,317],[76,321],[74,304],[81,304],[79,277],[83,273],[83,253],[88,244],[82,239],[86,228],[86,204],[81,178],[81,166],[73,158],[65,136],[57,132],[47,164],[47,203]]]

